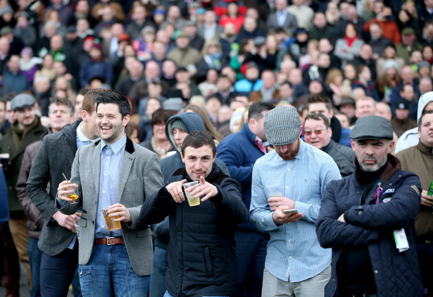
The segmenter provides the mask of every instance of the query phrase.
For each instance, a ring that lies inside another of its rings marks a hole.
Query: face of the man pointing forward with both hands
[[[182,162],[185,163],[185,169],[190,178],[195,181],[200,176],[207,178],[212,171],[212,165],[215,156],[210,145],[203,145],[198,148],[185,147],[185,154],[181,154]]]

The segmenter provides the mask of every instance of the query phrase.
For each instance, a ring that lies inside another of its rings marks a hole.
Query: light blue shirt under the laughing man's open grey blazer
[[[122,230],[108,230],[102,209],[118,203],[119,174],[125,147],[126,134],[112,145],[107,145],[101,140],[101,171],[95,238],[122,237]]]

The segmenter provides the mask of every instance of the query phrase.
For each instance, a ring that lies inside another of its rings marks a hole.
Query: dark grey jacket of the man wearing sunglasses
[[[335,163],[337,163],[342,178],[355,171],[355,163],[353,163],[355,160],[355,152],[353,152],[350,147],[336,143],[331,139],[331,142],[328,145],[322,147],[322,151],[329,154],[329,156],[334,159]]]

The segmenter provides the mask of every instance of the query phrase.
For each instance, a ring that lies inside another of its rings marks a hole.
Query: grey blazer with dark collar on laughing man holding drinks
[[[69,202],[61,209],[71,215],[82,206],[80,218],[80,246],[78,263],[86,265],[91,257],[95,239],[95,220],[98,209],[100,184],[100,141],[80,147],[72,164],[71,181],[78,185],[78,203]],[[140,209],[146,197],[163,186],[163,178],[157,154],[126,139],[126,147],[120,167],[118,203],[131,213],[132,222],[121,223],[124,245],[137,275],[152,274],[153,246],[151,229],[140,222]],[[58,203],[56,207],[60,209]]]

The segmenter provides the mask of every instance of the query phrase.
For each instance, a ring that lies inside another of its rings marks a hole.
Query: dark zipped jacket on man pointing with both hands
[[[191,181],[181,168],[168,183],[183,179]],[[146,200],[140,213],[146,224],[161,222],[170,215],[166,287],[175,297],[234,295],[234,228],[247,219],[247,208],[241,185],[215,164],[206,181],[219,193],[199,206],[190,207],[188,201],[177,204],[163,187]]]

